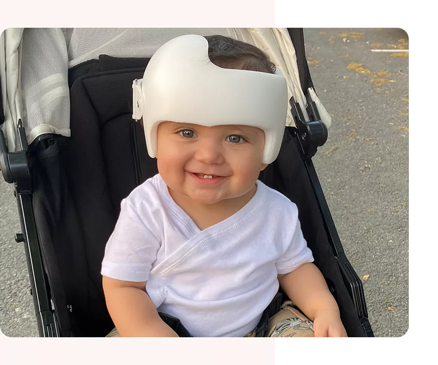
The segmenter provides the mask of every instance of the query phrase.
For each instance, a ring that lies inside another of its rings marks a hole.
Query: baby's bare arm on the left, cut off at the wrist
[[[122,337],[178,337],[158,315],[146,293],[146,281],[102,279],[110,316]]]

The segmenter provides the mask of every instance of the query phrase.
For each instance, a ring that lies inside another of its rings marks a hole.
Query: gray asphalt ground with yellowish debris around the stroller
[[[332,116],[314,164],[347,257],[367,278],[381,338],[408,330],[408,58],[370,50],[407,49],[407,37],[407,28],[305,29],[313,83]],[[12,187],[0,178],[0,329],[37,336],[19,231]]]

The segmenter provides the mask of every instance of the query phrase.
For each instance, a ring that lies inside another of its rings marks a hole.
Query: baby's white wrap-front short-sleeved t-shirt
[[[312,261],[296,205],[264,183],[236,214],[201,231],[158,174],[122,201],[101,273],[147,281],[158,311],[194,337],[243,337],[278,291],[277,274]]]

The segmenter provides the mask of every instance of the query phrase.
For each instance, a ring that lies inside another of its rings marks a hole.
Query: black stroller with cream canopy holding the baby
[[[0,169],[15,186],[39,335],[104,337],[114,325],[100,268],[120,201],[158,173],[132,119],[132,81],[184,34],[262,49],[286,77],[285,133],[259,179],[299,211],[302,231],[349,338],[373,338],[362,282],[347,260],[311,158],[329,114],[313,88],[302,28],[15,28],[0,44]],[[284,293],[283,293],[284,294]],[[178,319],[169,325],[181,325]]]

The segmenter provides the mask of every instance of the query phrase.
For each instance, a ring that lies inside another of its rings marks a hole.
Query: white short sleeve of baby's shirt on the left
[[[157,259],[160,242],[127,201],[105,248],[101,274],[125,281],[147,281]]]

